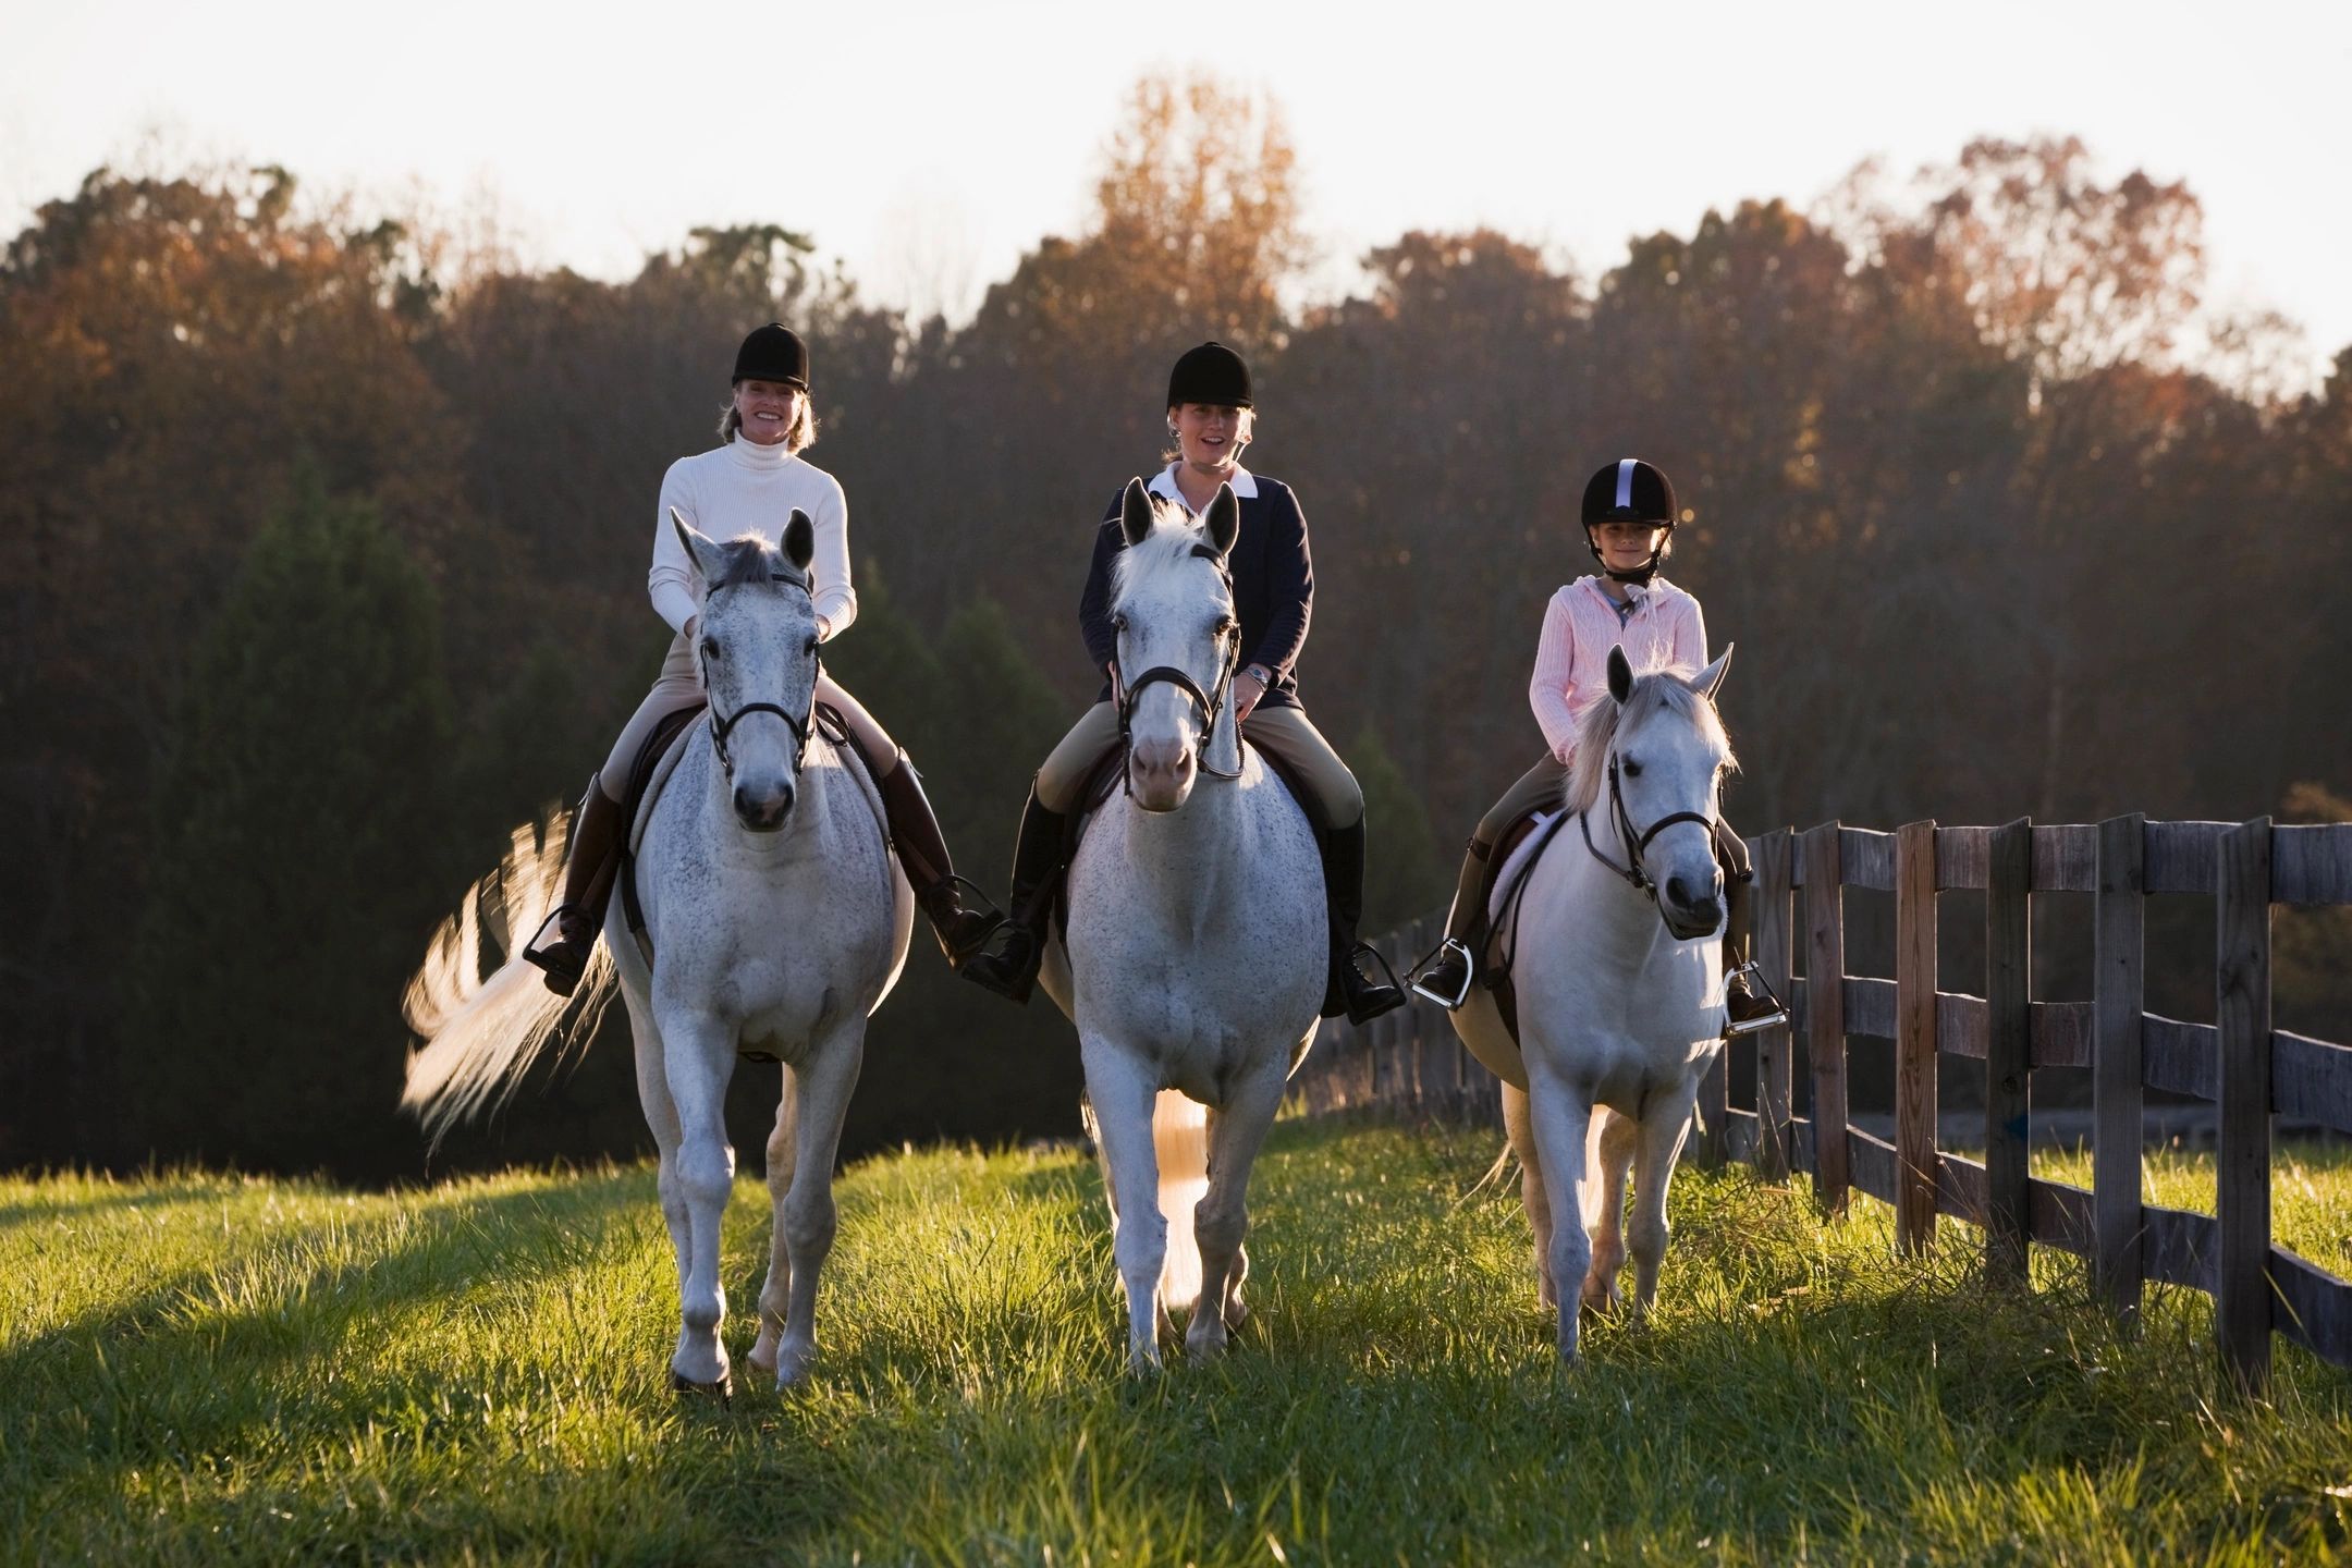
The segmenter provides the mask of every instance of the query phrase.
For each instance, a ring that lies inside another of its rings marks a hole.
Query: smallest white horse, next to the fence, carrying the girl
[[[1484,987],[1454,1011],[1463,1044],[1503,1077],[1503,1128],[1536,1234],[1559,1356],[1576,1361],[1578,1309],[1618,1305],[1635,1265],[1639,1319],[1665,1258],[1665,1190],[1722,1044],[1724,886],[1715,865],[1717,788],[1731,741],[1705,670],[1635,675],[1609,651],[1609,701],[1576,736],[1571,820],[1505,910],[1517,858],[1496,877],[1498,945],[1515,950],[1519,1044]],[[1625,1227],[1625,1175],[1635,1215]],[[1592,1234],[1588,1234],[1588,1229]],[[1569,1291],[1562,1288],[1569,1286]]]

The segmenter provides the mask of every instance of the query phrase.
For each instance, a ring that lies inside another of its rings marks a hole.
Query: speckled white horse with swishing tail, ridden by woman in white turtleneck
[[[619,973],[637,1039],[637,1095],[661,1150],[661,1215],[677,1251],[682,1326],[670,1356],[680,1392],[731,1392],[720,1321],[720,1218],[734,1192],[722,1117],[739,1053],[783,1060],[783,1098],[767,1143],[774,1199],[760,1338],[750,1363],[779,1385],[816,1359],[816,1274],[833,1246],[833,1159],[866,1058],[866,1018],[898,980],[913,893],[882,835],[866,776],[821,733],[814,531],[795,510],[779,555],[757,534],[715,543],[670,515],[706,590],[703,686],[710,710],[687,733],[675,771],[644,816],[637,893],[654,964],[612,900],[604,950],[581,980],[593,1016]],[[560,877],[562,839],[532,851],[517,832],[506,931],[532,931]],[[503,1100],[562,1023],[567,1001],[513,957],[475,978],[480,893],[468,896],[409,983],[402,1105],[435,1138]]]

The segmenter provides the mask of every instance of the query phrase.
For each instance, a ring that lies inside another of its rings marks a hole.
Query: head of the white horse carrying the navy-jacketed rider
[[[1174,811],[1192,795],[1240,658],[1225,555],[1242,531],[1242,503],[1218,487],[1192,527],[1181,505],[1152,501],[1129,480],[1120,524],[1127,550],[1110,625],[1120,639],[1127,785],[1145,811]]]

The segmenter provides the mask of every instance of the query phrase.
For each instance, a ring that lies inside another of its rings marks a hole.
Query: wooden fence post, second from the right
[[[2147,818],[2098,825],[2098,978],[2091,1001],[2091,1253],[2107,1309],[2140,1312],[2140,1030]]]

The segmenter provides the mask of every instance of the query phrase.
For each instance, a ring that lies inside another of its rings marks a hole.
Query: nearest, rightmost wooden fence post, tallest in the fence
[[[2220,1025],[2216,1204],[2223,1363],[2270,1380],[2270,818],[2220,835],[2213,867],[2213,1016]]]

